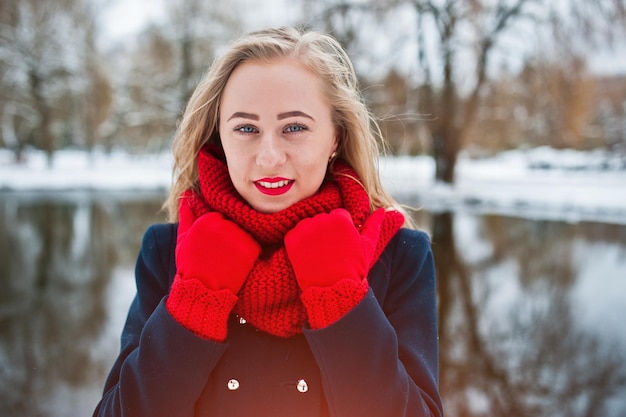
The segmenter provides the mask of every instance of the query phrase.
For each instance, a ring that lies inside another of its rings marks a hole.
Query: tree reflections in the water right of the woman
[[[594,327],[603,323],[585,323],[580,312],[604,300],[575,296],[589,279],[584,271],[608,270],[612,276],[604,277],[610,284],[605,295],[621,292],[617,311],[609,314],[624,317],[624,230],[496,216],[433,216],[441,390],[449,415],[626,413],[623,332],[619,326],[613,333],[596,332]],[[608,269],[584,258],[597,242],[621,253]]]

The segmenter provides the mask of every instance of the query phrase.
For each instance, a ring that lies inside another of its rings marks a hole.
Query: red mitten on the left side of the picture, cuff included
[[[166,307],[187,329],[224,341],[228,316],[261,247],[248,233],[219,213],[197,220],[183,202],[176,244],[176,278]]]

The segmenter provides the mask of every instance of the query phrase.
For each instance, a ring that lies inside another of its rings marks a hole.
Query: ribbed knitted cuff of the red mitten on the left
[[[237,302],[229,289],[210,290],[197,279],[174,279],[165,306],[187,330],[205,339],[223,342],[228,332],[228,316]]]

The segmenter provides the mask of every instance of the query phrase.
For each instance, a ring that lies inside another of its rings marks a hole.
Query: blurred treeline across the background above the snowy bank
[[[112,41],[105,3],[0,3],[0,147],[16,159],[29,146],[50,157],[168,147],[207,66],[255,17],[242,0],[163,2],[163,19]],[[626,152],[626,74],[589,70],[592,51],[625,38],[626,0],[298,0],[291,11],[291,24],[345,45],[389,150],[432,154],[441,180],[454,180],[462,149]]]

